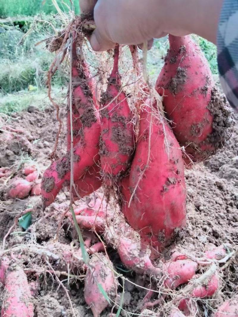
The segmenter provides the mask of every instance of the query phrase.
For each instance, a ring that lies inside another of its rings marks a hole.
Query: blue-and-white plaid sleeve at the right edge
[[[217,60],[221,85],[238,110],[238,0],[224,0],[217,33]]]

